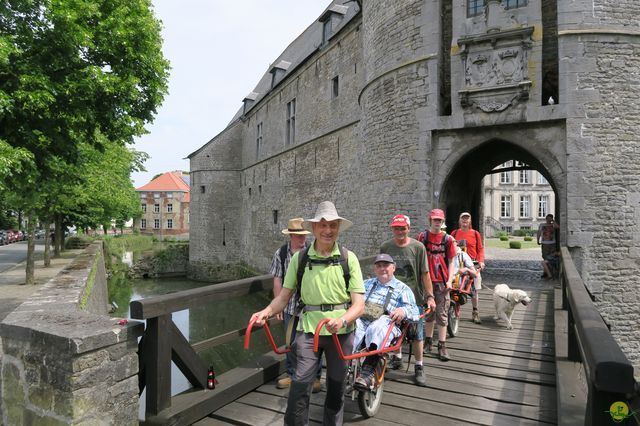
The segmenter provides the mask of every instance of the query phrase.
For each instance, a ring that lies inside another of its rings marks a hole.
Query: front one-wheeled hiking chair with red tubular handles
[[[425,315],[428,315],[430,312],[429,309],[427,308],[425,309],[426,311],[421,315],[421,318],[424,317]],[[329,321],[330,319],[328,318],[323,319],[318,323],[316,327],[316,331],[313,336],[313,350],[315,352],[318,351],[318,345],[320,342],[320,331],[325,326],[325,324],[328,323]],[[252,320],[249,322],[249,325],[247,326],[247,331],[244,337],[245,349],[249,349],[249,345],[251,341],[251,329],[253,328],[254,324],[255,324],[255,319],[252,318]],[[342,350],[342,346],[340,345],[340,340],[338,339],[338,335],[335,333],[332,334],[333,342],[336,345],[336,348],[338,350],[338,355],[343,360],[349,361],[349,369],[346,377],[346,382],[347,382],[346,394],[350,394],[352,400],[356,400],[356,399],[358,400],[358,408],[363,417],[365,418],[373,417],[376,415],[376,413],[380,409],[380,405],[382,402],[382,395],[384,393],[384,375],[387,370],[387,362],[389,360],[388,354],[390,352],[397,352],[402,347],[404,340],[408,337],[408,333],[409,333],[409,337],[411,337],[410,330],[412,329],[412,326],[415,326],[416,324],[417,324],[416,322],[411,322],[406,320],[402,321],[400,323],[400,329],[401,329],[400,336],[394,339],[394,341],[391,342],[390,346],[385,347],[387,345],[387,342],[389,341],[389,337],[391,336],[393,327],[396,325],[395,323],[391,323],[389,325],[389,328],[387,329],[387,333],[385,334],[382,344],[380,345],[382,346],[382,349],[376,349],[372,351],[362,349],[351,355],[344,354]],[[285,354],[291,350],[290,347],[285,347],[284,349],[280,349],[276,346],[276,343],[273,340],[273,334],[269,329],[268,322],[264,323],[263,328],[267,336],[267,340],[269,341],[269,344],[271,345],[271,348],[275,353]],[[415,330],[414,330],[414,333],[415,333]],[[362,387],[354,386],[356,378],[360,375],[362,371],[362,363],[364,359],[371,355],[381,355],[380,359],[378,360],[377,364],[374,367],[374,380],[372,381],[371,387],[369,389],[364,389]]]

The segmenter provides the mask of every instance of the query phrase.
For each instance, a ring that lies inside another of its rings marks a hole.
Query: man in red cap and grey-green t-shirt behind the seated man
[[[416,300],[424,302],[434,310],[436,303],[427,267],[425,247],[419,241],[409,237],[411,228],[409,216],[397,214],[389,226],[393,232],[393,238],[380,246],[380,253],[386,253],[395,260],[395,277],[411,288]],[[420,309],[422,314],[422,307]],[[416,358],[414,381],[418,386],[427,385],[422,365],[423,348],[424,320],[421,319],[413,344],[413,354]],[[394,354],[389,365],[394,370],[402,368],[402,354]]]

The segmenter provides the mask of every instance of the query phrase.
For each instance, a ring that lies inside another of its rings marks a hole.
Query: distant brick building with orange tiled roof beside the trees
[[[163,173],[136,191],[140,194],[142,216],[134,220],[134,229],[160,240],[189,238],[188,174]]]

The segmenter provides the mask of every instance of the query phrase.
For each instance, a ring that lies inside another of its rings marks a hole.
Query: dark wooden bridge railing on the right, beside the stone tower
[[[612,424],[614,402],[637,395],[633,365],[596,309],[566,247],[562,252],[562,308],[568,312],[568,358],[582,362],[587,380],[585,425]],[[562,407],[558,407],[561,415]]]

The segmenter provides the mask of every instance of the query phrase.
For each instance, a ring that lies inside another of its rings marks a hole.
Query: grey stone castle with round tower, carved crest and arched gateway
[[[483,179],[515,160],[549,182],[561,244],[640,366],[640,284],[620,279],[640,263],[640,2],[343,3],[189,156],[192,272],[267,270],[286,219],[322,200],[359,255],[396,213],[418,231],[433,207],[449,225],[469,211],[484,229]]]

